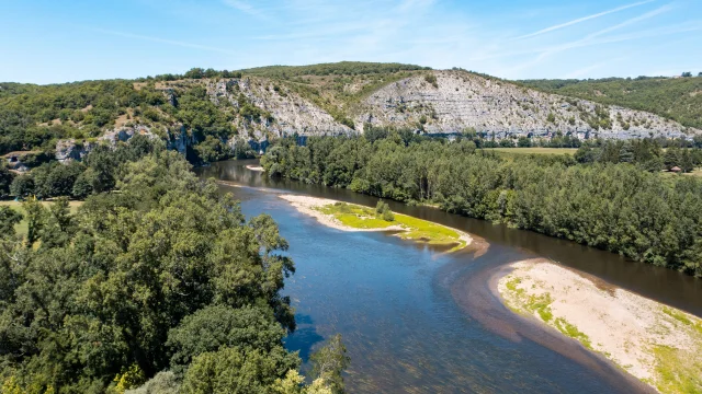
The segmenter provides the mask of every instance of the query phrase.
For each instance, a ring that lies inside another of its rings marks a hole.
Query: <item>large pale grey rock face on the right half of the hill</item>
[[[416,76],[381,88],[365,100],[356,124],[422,125],[427,132],[473,128],[498,138],[546,136],[556,130],[603,138],[648,137],[652,132],[684,136],[684,127],[650,113],[542,93],[461,70],[432,74],[435,81]]]

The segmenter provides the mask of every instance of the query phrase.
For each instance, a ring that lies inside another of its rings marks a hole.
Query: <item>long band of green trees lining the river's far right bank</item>
[[[404,138],[284,140],[262,160],[270,176],[346,187],[507,223],[702,276],[702,182],[632,163],[568,155],[508,159],[473,141]]]

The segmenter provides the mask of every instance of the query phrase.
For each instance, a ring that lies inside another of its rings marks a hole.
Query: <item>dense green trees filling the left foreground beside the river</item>
[[[283,347],[295,267],[271,217],[246,220],[148,139],[84,166],[106,182],[76,213],[66,198],[0,207],[2,393],[343,392],[339,336],[312,356],[309,384]]]

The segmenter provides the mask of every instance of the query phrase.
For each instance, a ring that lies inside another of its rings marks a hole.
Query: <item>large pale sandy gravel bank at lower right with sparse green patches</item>
[[[544,259],[510,265],[512,311],[578,340],[661,393],[702,392],[702,320]]]

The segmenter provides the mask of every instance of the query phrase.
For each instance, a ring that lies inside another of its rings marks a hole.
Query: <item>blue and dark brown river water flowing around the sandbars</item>
[[[702,281],[618,255],[494,225],[428,207],[388,201],[393,210],[464,230],[487,252],[445,254],[396,236],[320,225],[279,198],[305,194],[375,206],[376,198],[298,182],[268,179],[227,161],[197,169],[246,187],[222,185],[248,216],[271,215],[290,242],[296,274],[284,293],[297,331],[286,347],[307,360],[341,333],[351,357],[349,393],[649,392],[603,358],[517,316],[495,296],[505,265],[546,257],[702,316]]]

